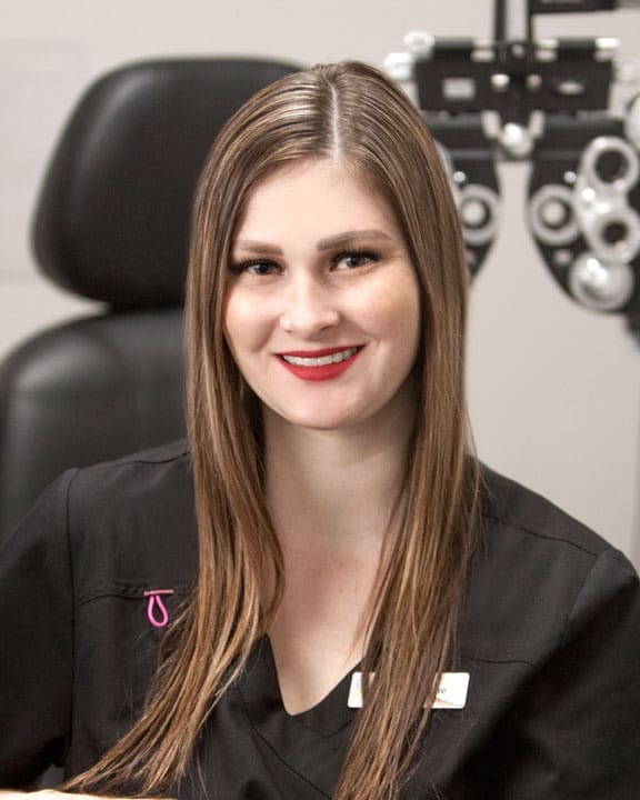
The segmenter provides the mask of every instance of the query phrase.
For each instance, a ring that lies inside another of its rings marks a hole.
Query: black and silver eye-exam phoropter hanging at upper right
[[[611,38],[536,39],[541,13],[640,8],[640,0],[496,0],[494,38],[406,37],[389,73],[414,83],[458,202],[474,274],[500,226],[496,162],[531,160],[528,222],[558,284],[624,314],[640,337],[640,70]],[[636,94],[610,109],[623,77]]]

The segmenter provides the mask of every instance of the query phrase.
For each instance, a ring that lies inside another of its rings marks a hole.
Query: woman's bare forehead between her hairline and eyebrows
[[[314,159],[278,169],[260,181],[247,199],[236,238],[286,236],[292,230],[323,237],[359,228],[399,234],[388,202],[351,167]]]

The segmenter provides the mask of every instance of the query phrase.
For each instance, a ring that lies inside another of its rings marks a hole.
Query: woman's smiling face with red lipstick
[[[410,410],[418,280],[390,209],[342,163],[259,183],[230,271],[224,334],[266,414],[339,429]]]

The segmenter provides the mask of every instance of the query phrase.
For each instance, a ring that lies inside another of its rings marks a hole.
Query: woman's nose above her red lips
[[[288,333],[309,339],[340,321],[337,299],[319,276],[292,276],[283,297],[280,327]]]

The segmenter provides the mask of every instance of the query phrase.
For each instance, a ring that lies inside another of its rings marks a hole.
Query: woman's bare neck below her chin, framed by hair
[[[383,424],[347,430],[292,426],[266,410],[267,497],[286,549],[381,544],[401,494],[414,418],[407,406]]]

